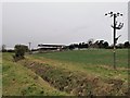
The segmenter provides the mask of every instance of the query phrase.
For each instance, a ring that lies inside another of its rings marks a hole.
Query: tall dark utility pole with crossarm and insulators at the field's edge
[[[118,24],[116,19],[118,16],[122,16],[122,14],[120,14],[119,12],[118,13],[109,12],[109,13],[106,13],[105,15],[109,15],[110,17],[114,19],[114,23],[113,23],[112,27],[114,29],[114,51],[113,51],[114,52],[114,69],[116,70],[116,44],[117,44],[118,38],[121,36],[121,35],[119,35],[118,37],[116,37],[116,30],[121,29],[123,26],[123,23]]]

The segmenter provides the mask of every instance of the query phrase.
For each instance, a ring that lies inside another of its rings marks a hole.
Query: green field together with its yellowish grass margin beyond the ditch
[[[76,50],[52,53],[36,53],[30,59],[38,59],[75,72],[83,72],[102,78],[121,78],[128,81],[127,70],[113,70],[113,50]],[[128,50],[117,50],[117,68],[128,68]]]

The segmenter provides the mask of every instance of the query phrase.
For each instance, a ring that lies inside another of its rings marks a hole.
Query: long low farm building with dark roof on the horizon
[[[64,45],[38,45],[38,50],[40,52],[61,51],[64,47],[65,47]]]

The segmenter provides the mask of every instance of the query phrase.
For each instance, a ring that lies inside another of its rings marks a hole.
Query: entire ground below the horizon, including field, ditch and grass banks
[[[128,50],[117,50],[117,70],[112,49],[68,50],[26,54],[13,61],[3,53],[3,96],[126,96]]]

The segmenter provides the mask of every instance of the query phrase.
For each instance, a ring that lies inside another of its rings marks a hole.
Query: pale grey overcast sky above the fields
[[[118,42],[128,40],[127,2],[4,2],[2,8],[2,42],[16,44],[87,42],[93,38],[113,42],[113,19],[106,12],[121,12],[122,29]]]

